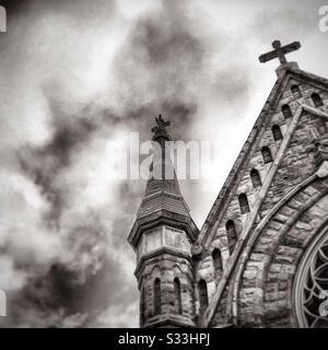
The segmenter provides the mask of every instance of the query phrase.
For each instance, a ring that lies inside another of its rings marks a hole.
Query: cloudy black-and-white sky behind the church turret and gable
[[[201,228],[277,79],[271,43],[328,78],[325,1],[0,1],[0,327],[138,327],[127,243],[145,182],[118,176],[130,132],[216,142],[180,180]],[[206,183],[206,186],[204,186]]]

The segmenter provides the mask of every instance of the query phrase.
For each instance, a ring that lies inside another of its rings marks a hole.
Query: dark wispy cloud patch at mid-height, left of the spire
[[[83,148],[97,126],[85,116],[66,116],[55,101],[49,101],[52,138],[43,147],[24,148],[19,151],[22,168],[30,174],[42,192],[51,202],[47,214],[58,220],[69,188],[58,187],[56,178],[63,168],[71,165],[73,152]],[[54,184],[55,183],[55,184]],[[66,186],[67,187],[67,186]]]

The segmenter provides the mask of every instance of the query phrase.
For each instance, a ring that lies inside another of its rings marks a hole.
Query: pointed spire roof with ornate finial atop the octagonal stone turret
[[[186,230],[192,242],[198,232],[183,198],[171,159],[171,137],[166,130],[171,122],[165,121],[162,115],[155,120],[156,126],[152,128],[154,153],[150,177],[137,213],[137,221],[129,235],[129,242],[134,247],[143,231],[140,230],[141,225],[157,224],[157,221],[169,221],[171,225]]]

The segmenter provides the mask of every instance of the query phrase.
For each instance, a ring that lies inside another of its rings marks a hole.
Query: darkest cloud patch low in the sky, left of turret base
[[[70,233],[70,248],[75,256],[95,255],[94,246],[99,243],[103,246],[107,244],[105,235],[101,236],[97,229],[95,225],[82,226]],[[81,238],[81,235],[84,237]],[[94,268],[97,265],[95,270],[89,270],[87,266],[82,269],[79,266],[56,262],[46,273],[31,278],[26,287],[15,295],[12,324],[24,326],[27,313],[31,315],[31,319],[27,319],[31,325],[62,327],[69,326],[67,322],[77,315],[79,317],[73,326],[81,327],[92,323],[92,319],[108,307],[108,303],[128,305],[131,290],[126,283],[120,261],[104,252],[97,252],[97,255],[96,264],[89,266]]]

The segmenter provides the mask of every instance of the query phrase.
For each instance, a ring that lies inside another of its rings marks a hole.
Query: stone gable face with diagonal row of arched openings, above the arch
[[[302,79],[300,79],[300,77]],[[307,83],[308,81],[308,83]],[[303,97],[295,100],[291,92],[297,85]],[[319,93],[326,107],[315,108],[311,100],[312,93]],[[282,106],[289,104],[291,118],[285,118]],[[207,314],[212,314],[223,307],[220,298],[227,290],[230,276],[235,262],[239,258],[243,246],[249,237],[250,231],[266,211],[274,206],[293,186],[315,173],[314,162],[308,160],[308,129],[327,131],[328,114],[328,82],[302,71],[289,71],[278,79],[258,120],[253,128],[233,170],[225,182],[210,214],[201,230],[200,243],[204,247],[203,259],[198,265],[196,278],[208,282],[210,291],[210,306]],[[282,139],[277,140],[272,133],[272,126],[278,125]],[[272,162],[266,163],[261,154],[263,147],[270,149]],[[302,168],[302,174],[296,170]],[[250,178],[251,170],[256,168],[260,175],[261,187],[256,188]],[[282,186],[283,184],[283,186]],[[249,213],[241,213],[238,196],[246,194],[250,207]],[[274,200],[272,199],[274,197]],[[263,203],[263,205],[262,205]],[[238,241],[231,246],[227,240],[225,224],[233,220],[236,225]],[[223,260],[223,278],[215,280],[211,265],[211,252],[221,250]],[[230,302],[224,302],[231,305]],[[221,306],[220,306],[221,305]],[[224,307],[223,307],[224,308]],[[210,316],[207,316],[209,319]],[[229,322],[225,319],[223,322]]]

